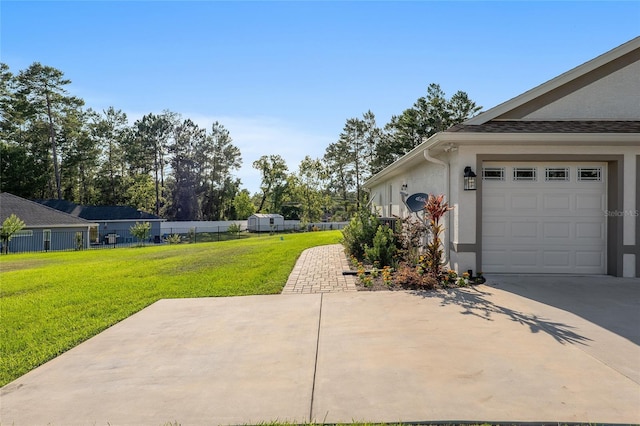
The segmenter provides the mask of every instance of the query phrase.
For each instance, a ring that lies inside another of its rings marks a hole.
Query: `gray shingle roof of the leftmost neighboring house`
[[[93,223],[8,192],[0,192],[0,223],[11,214],[18,216],[27,228],[89,226]]]

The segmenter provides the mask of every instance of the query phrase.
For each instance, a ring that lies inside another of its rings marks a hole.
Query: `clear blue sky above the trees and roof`
[[[60,69],[87,107],[221,122],[255,192],[261,155],[296,170],[430,83],[494,107],[640,35],[640,2],[3,0],[0,24],[2,62]]]

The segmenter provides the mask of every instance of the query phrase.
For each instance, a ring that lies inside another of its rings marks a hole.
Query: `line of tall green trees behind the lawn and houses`
[[[85,108],[62,71],[40,63],[13,74],[0,63],[0,186],[29,199],[130,205],[169,220],[246,219],[254,212],[303,221],[346,220],[366,202],[362,184],[425,137],[480,107],[465,92],[447,98],[431,84],[411,108],[383,127],[367,111],[346,120],[322,158],[290,171],[280,155],[252,166],[260,191],[234,173],[240,149],[219,122],[200,128],[168,110],[133,124],[124,112]]]

